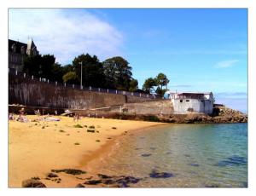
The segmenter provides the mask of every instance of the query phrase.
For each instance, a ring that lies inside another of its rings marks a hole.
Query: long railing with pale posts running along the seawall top
[[[143,98],[149,98],[149,99],[161,99],[159,95],[144,94],[139,92],[129,92],[129,91],[118,90],[118,89],[103,89],[103,88],[96,88],[91,86],[81,87],[80,85],[77,85],[77,84],[60,83],[57,81],[53,82],[53,81],[49,81],[49,79],[47,78],[36,78],[34,76],[28,76],[26,72],[17,72],[15,69],[12,69],[12,68],[9,68],[9,74],[15,75],[17,77],[31,79],[33,81],[52,84],[56,86],[62,86],[65,88],[86,90],[86,91],[99,92],[99,93],[116,94],[116,95],[130,95],[130,96],[137,96],[137,97],[143,97]]]

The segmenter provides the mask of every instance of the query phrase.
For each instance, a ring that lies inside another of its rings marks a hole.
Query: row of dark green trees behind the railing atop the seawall
[[[129,90],[131,92],[157,93],[163,95],[163,89],[169,83],[166,75],[160,72],[155,78],[147,78],[143,90],[138,89],[138,81],[132,78],[129,62],[121,56],[99,61],[96,55],[82,54],[73,59],[72,64],[61,66],[55,63],[54,55],[31,55],[24,60],[23,72],[34,77],[67,84],[80,84],[82,67],[83,86]]]

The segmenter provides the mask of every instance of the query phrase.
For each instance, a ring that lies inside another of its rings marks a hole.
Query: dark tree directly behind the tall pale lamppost
[[[105,87],[105,77],[103,73],[102,63],[98,60],[96,55],[90,56],[79,55],[73,60],[74,72],[76,72],[79,82],[81,76],[82,63],[82,83],[84,86]]]

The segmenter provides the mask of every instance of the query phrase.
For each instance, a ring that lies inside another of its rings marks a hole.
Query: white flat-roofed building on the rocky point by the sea
[[[183,92],[172,93],[167,91],[165,98],[172,101],[174,113],[186,114],[189,112],[203,112],[211,114],[213,110],[214,98],[210,93]]]

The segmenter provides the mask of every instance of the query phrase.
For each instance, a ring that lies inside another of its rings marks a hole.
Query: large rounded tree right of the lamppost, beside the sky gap
[[[121,56],[115,56],[103,62],[106,84],[115,89],[129,90],[131,82],[131,66]]]

